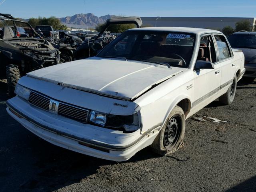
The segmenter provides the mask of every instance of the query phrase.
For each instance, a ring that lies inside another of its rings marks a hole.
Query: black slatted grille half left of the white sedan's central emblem
[[[30,92],[28,102],[44,110],[49,110],[50,98],[47,98],[46,96],[38,94],[34,91]]]

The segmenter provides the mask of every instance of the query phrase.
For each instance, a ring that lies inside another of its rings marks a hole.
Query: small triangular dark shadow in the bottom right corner
[[[256,192],[256,176],[226,190],[225,192]]]

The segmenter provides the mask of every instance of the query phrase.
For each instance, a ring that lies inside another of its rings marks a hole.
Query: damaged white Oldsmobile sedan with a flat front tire
[[[178,150],[185,120],[213,100],[231,104],[244,55],[219,31],[127,30],[96,57],[28,73],[7,112],[57,146],[124,161],[151,146]]]

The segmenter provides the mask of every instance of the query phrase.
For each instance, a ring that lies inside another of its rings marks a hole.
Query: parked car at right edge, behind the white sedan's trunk
[[[256,32],[236,32],[228,37],[232,48],[237,48],[244,53],[244,77],[250,82],[256,78]]]

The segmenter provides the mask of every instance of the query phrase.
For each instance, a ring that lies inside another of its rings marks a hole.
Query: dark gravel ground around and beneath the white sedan
[[[6,113],[0,81],[0,192],[256,192],[256,82],[239,82],[234,102],[212,102],[186,121],[184,146],[168,156],[150,148],[112,162],[54,146]]]

